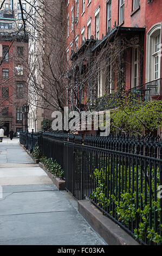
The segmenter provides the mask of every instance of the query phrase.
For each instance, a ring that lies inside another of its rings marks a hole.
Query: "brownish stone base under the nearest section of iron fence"
[[[140,245],[108,217],[102,215],[90,200],[78,201],[78,210],[90,226],[107,242],[108,245]]]

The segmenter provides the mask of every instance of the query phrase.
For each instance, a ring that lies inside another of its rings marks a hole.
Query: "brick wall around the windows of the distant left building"
[[[2,45],[8,45],[10,47],[9,49],[9,62],[3,62],[2,65],[0,65],[0,97],[2,95],[2,86],[8,86],[9,87],[9,100],[5,100],[2,104],[1,99],[1,107],[8,106],[9,107],[9,120],[12,120],[10,122],[10,129],[14,129],[16,131],[16,127],[22,127],[22,124],[16,123],[16,108],[22,107],[24,103],[27,100],[28,97],[28,88],[27,88],[27,69],[28,69],[28,42],[17,42],[15,40],[13,44],[11,44],[11,41],[2,41],[0,40],[0,44]],[[24,47],[24,54],[22,57],[17,56],[17,46],[23,46]],[[15,66],[20,63],[23,64],[23,76],[15,76]],[[4,83],[5,80],[2,78],[2,69],[9,69],[9,79]],[[25,84],[24,86],[24,97],[23,99],[18,99],[16,95],[16,82],[23,82]],[[7,119],[7,118],[5,118]],[[14,125],[15,124],[15,125]]]

